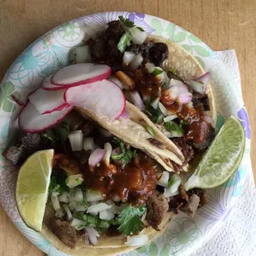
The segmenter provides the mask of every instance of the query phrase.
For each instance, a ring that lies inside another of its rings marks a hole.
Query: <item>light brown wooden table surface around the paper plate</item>
[[[0,0],[0,78],[17,55],[51,28],[75,17],[107,11],[144,12],[191,31],[212,50],[235,49],[252,152],[256,147],[256,1],[254,0]],[[252,154],[253,166],[256,154]],[[254,171],[254,177],[255,177]],[[0,255],[44,255],[23,237],[0,208]]]

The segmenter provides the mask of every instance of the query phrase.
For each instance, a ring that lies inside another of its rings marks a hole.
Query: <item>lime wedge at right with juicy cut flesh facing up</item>
[[[193,187],[218,187],[235,173],[244,154],[244,128],[234,116],[225,121],[196,171],[188,178],[185,190]]]

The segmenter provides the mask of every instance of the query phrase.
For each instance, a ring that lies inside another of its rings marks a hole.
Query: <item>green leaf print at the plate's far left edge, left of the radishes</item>
[[[15,92],[13,83],[7,82],[0,87],[0,108],[2,108],[3,111],[12,112],[16,109],[16,102],[12,99],[12,94],[17,97],[17,99],[21,98],[21,94]]]

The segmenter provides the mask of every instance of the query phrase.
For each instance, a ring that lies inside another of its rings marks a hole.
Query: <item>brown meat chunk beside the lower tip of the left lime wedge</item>
[[[67,220],[48,220],[46,221],[48,228],[70,248],[74,248],[79,239],[79,232],[70,225]]]

